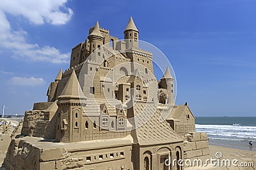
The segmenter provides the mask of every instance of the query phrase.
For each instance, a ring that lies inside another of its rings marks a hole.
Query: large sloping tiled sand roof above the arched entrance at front
[[[138,115],[143,111],[143,113],[140,114],[141,117],[135,119],[135,124],[140,124],[140,121],[142,120],[148,120],[145,124],[132,132],[134,143],[138,143],[140,145],[155,145],[183,141],[166,121],[159,122],[161,113],[156,109],[154,104],[147,104],[147,107],[145,107],[145,104],[143,103],[136,103],[133,108],[134,115]],[[155,113],[151,118],[150,114],[145,114],[152,113],[154,111]]]

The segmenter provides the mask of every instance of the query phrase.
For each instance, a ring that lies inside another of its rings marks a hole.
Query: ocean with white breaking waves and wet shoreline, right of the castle
[[[195,123],[196,132],[207,132],[210,145],[256,151],[256,117],[196,117]]]

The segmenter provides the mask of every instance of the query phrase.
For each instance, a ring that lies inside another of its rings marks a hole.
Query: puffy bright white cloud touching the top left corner
[[[22,15],[34,24],[45,22],[54,25],[66,24],[73,11],[65,6],[67,0],[3,0],[0,8],[14,16]]]

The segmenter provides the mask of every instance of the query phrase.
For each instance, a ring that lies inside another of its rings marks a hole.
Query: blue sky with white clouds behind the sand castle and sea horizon
[[[177,78],[195,116],[255,116],[256,1],[0,1],[0,104],[24,114],[46,101],[72,47],[97,20],[120,39],[132,16]],[[162,75],[157,75],[157,78]]]

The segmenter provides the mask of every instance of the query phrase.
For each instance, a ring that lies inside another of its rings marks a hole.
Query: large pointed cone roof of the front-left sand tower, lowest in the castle
[[[72,98],[79,99],[81,97],[82,89],[79,85],[79,82],[76,77],[76,73],[73,70],[70,78],[68,79],[67,85],[64,90],[61,92],[61,95],[58,98]]]

